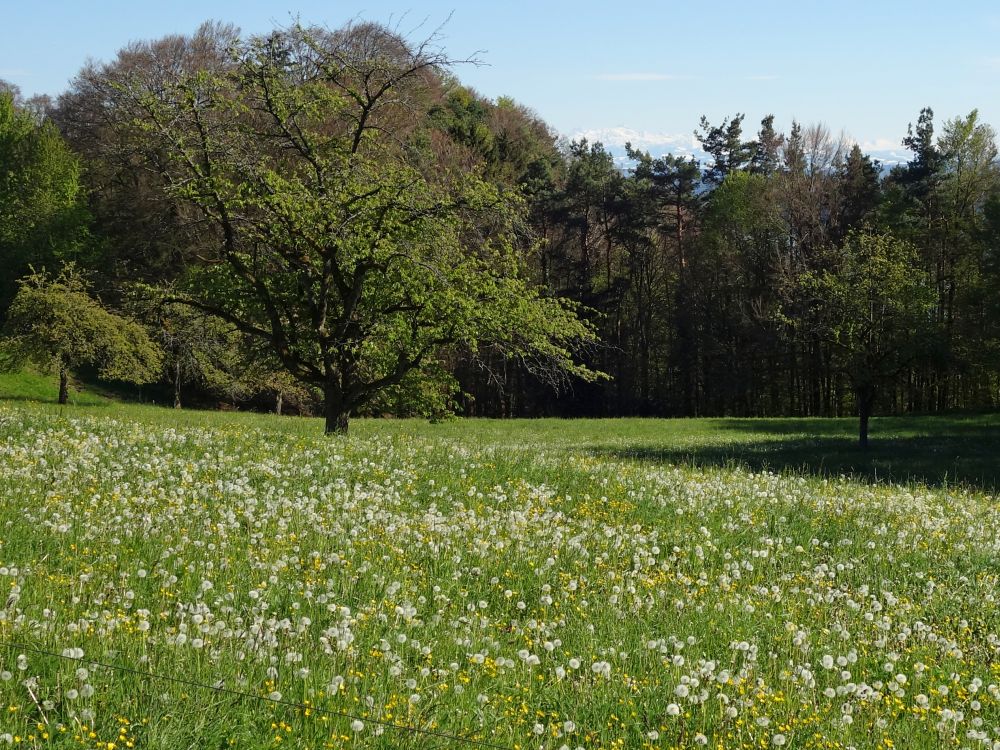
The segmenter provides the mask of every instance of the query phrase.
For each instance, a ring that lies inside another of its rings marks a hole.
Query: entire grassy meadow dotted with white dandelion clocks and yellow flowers
[[[0,746],[1000,747],[1000,420],[873,428],[0,402]]]

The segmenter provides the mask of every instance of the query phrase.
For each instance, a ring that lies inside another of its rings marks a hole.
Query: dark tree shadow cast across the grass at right
[[[719,419],[704,442],[595,445],[596,455],[693,466],[745,466],[869,482],[1000,490],[1000,418],[885,417],[868,450],[847,419]]]

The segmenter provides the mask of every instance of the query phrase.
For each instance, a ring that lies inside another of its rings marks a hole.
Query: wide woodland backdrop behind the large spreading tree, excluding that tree
[[[386,58],[420,59],[397,36],[361,32],[352,33],[378,40],[365,53],[369,73],[382,71]],[[184,393],[202,401],[291,400],[308,410],[323,400],[322,389],[259,337],[196,307],[164,305],[162,295],[158,306],[143,307],[130,291],[181,282],[190,289],[192,269],[208,278],[205,269],[222,262],[226,231],[215,209],[204,210],[206,186],[218,183],[198,169],[201,182],[184,183],[177,167],[196,155],[211,169],[221,158],[222,146],[205,145],[221,126],[206,125],[200,151],[185,140],[196,140],[197,115],[209,111],[196,98],[213,92],[185,89],[195,99],[183,111],[194,119],[170,141],[157,130],[166,125],[136,116],[146,104],[136,81],[144,95],[157,96],[158,85],[169,88],[182,75],[235,80],[226,55],[237,38],[231,27],[207,24],[191,37],[132,44],[110,63],[88,64],[54,101],[23,102],[7,87],[0,97],[0,310],[31,267],[71,260],[90,270],[102,299],[146,322],[165,353],[161,388],[177,403]],[[273,56],[273,46],[265,40],[253,54]],[[622,168],[599,143],[560,140],[514,100],[477,95],[445,62],[412,74],[419,86],[406,89],[405,113],[378,110],[377,129],[398,143],[392,158],[405,159],[427,185],[438,184],[435,174],[475,175],[516,204],[502,222],[494,216],[493,225],[463,225],[449,237],[485,247],[490,226],[502,223],[524,273],[545,296],[568,300],[560,309],[575,309],[599,334],[598,344],[578,350],[581,372],[611,377],[565,382],[533,367],[527,349],[482,345],[473,335],[442,338],[430,357],[436,375],[408,389],[395,388],[400,378],[355,413],[454,406],[490,416],[860,413],[865,421],[880,404],[897,412],[997,405],[1000,171],[995,133],[976,112],[936,129],[931,110],[921,111],[902,144],[911,160],[891,169],[824,126],[793,123],[782,133],[769,116],[748,129],[740,114],[718,124],[702,118],[702,163],[630,147]],[[269,80],[261,74],[255,85],[279,125],[296,122],[295,107],[320,111],[319,100],[299,89],[268,102]],[[339,106],[331,105],[331,117],[347,111]],[[355,124],[361,118],[353,144],[360,153],[370,123],[363,107],[357,111],[350,116]],[[280,128],[255,135],[272,144],[308,142]],[[226,163],[230,174],[257,174],[248,153],[240,152],[243,163]],[[332,162],[310,166],[307,151],[298,156],[274,159],[297,179],[296,170],[312,169],[321,182],[321,167]],[[264,210],[260,195],[237,193],[233,205],[258,201]],[[509,343],[511,335],[499,339]],[[418,362],[430,372],[426,360]],[[443,385],[449,382],[458,387]],[[555,394],[554,383],[562,386]]]

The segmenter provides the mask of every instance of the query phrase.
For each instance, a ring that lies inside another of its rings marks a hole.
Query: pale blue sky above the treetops
[[[484,65],[456,72],[489,97],[511,95],[566,135],[690,144],[713,122],[769,112],[898,150],[930,105],[937,120],[978,107],[1000,128],[1000,5],[984,0],[319,2],[39,0],[3,12],[0,77],[57,94],[83,62],[124,44],[189,33],[202,21],[266,31],[292,14],[340,26],[398,23],[418,38],[449,15],[443,44]]]

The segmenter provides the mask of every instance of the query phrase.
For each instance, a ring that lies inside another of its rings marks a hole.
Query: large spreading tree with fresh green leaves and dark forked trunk
[[[596,377],[573,355],[592,330],[522,275],[517,196],[442,157],[426,113],[448,63],[374,24],[295,26],[225,64],[104,82],[214,241],[172,299],[267,342],[322,390],[327,432],[387,389],[447,378],[450,347]]]

